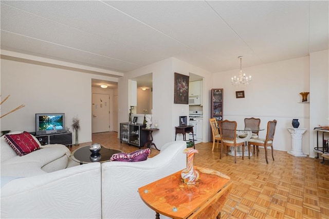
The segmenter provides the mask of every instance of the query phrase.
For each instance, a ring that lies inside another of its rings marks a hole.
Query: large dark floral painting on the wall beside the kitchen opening
[[[174,103],[189,104],[189,76],[175,72]]]

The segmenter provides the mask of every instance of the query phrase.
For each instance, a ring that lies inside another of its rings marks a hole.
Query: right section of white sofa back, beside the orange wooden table
[[[163,145],[155,157],[140,162],[102,163],[103,218],[154,218],[143,203],[138,188],[186,168],[186,142]]]

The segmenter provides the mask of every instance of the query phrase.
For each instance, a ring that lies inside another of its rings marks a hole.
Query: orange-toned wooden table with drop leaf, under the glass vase
[[[200,177],[194,185],[185,184],[178,171],[138,189],[156,218],[159,213],[172,218],[220,218],[232,181],[218,171],[195,168]]]

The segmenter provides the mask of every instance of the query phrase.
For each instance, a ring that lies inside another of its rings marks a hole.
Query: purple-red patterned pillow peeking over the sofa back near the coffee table
[[[127,153],[117,153],[112,155],[111,161],[122,161],[122,162],[138,162],[147,160],[149,155],[151,153],[151,150],[148,149],[140,149],[137,151],[134,151],[130,154]]]

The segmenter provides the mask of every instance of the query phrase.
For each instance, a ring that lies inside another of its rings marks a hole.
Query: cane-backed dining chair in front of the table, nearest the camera
[[[220,159],[222,158],[223,147],[225,146],[226,156],[228,155],[227,147],[234,147],[234,163],[236,163],[236,148],[242,146],[242,159],[244,159],[245,142],[236,137],[236,121],[224,120],[219,122],[220,133],[222,136],[222,149]]]

